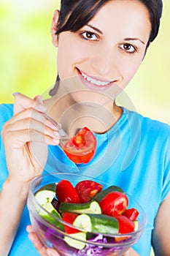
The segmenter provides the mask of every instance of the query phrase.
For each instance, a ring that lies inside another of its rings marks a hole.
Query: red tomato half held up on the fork
[[[76,164],[89,162],[96,152],[96,138],[93,132],[84,127],[63,146],[67,157]]]

